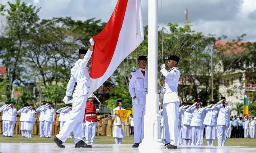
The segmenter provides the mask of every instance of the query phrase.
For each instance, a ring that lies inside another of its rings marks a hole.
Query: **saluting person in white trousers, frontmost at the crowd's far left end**
[[[7,105],[3,111],[6,111],[7,136],[13,137],[14,125],[16,123],[17,109],[13,106],[13,102]]]

